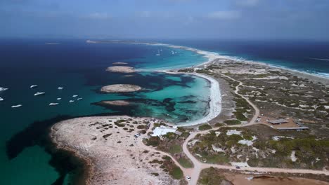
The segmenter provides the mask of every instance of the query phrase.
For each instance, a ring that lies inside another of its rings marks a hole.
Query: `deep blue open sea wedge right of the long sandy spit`
[[[163,40],[160,42],[213,51],[238,59],[264,62],[276,67],[329,78],[328,41]]]

